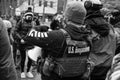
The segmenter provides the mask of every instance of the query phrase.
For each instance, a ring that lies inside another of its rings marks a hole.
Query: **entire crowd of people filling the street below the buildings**
[[[34,78],[34,63],[42,80],[119,80],[120,10],[115,9],[103,14],[100,0],[69,2],[49,26],[41,24],[31,7],[19,18],[2,16],[0,79],[18,80],[17,68],[21,78]],[[30,51],[39,54],[37,60]]]

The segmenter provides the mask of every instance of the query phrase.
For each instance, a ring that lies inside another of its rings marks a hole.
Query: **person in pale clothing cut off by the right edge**
[[[112,65],[111,65],[111,68],[107,74],[107,77],[106,77],[106,80],[119,80],[120,79],[120,28],[119,28],[119,25],[120,25],[120,22],[119,22],[119,13],[120,13],[120,6],[117,5],[115,7],[115,9],[117,9],[118,11],[116,12],[112,12],[111,14],[113,15],[114,18],[110,19],[111,20],[111,24],[114,26],[114,29],[116,31],[116,34],[118,36],[118,41],[117,41],[117,49],[116,49],[116,53],[115,53],[115,56],[113,58],[113,61],[112,61]]]

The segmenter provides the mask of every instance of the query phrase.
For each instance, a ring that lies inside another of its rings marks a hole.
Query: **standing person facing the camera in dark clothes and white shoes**
[[[26,50],[27,50],[27,45],[24,43],[23,38],[27,35],[27,32],[29,32],[29,30],[31,28],[33,28],[34,22],[33,22],[33,14],[30,12],[26,12],[22,18],[22,20],[20,20],[15,28],[15,35],[17,38],[17,43],[19,44],[19,51],[21,54],[21,78],[33,78],[33,74],[30,72],[30,68],[32,65],[32,60],[30,58],[28,58],[28,62],[27,62],[27,74],[24,71],[25,68],[25,60],[26,60]]]

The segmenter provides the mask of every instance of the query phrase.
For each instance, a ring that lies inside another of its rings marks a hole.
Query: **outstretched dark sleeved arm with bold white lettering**
[[[31,43],[42,48],[60,48],[64,39],[64,34],[60,30],[40,32],[32,29],[24,40],[28,44]]]

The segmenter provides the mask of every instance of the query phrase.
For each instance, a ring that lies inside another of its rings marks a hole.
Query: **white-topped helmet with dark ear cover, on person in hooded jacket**
[[[100,0],[85,0],[84,6],[87,10],[89,10],[89,9],[99,10],[103,7]]]

